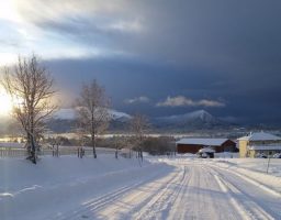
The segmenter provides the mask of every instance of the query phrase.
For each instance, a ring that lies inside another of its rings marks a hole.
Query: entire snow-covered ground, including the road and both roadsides
[[[0,219],[281,219],[281,160],[0,158]]]

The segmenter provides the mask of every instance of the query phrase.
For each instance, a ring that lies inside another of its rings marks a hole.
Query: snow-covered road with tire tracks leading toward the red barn
[[[116,188],[59,219],[281,219],[280,196],[227,169],[169,164],[176,168],[167,176]]]

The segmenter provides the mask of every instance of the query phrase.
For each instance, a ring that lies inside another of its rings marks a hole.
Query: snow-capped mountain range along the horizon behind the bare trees
[[[111,121],[109,132],[127,132],[132,116],[109,110]],[[196,132],[217,130],[280,130],[280,125],[272,124],[248,124],[233,117],[214,117],[205,110],[188,112],[184,114],[149,118],[151,132]],[[76,112],[74,109],[60,109],[47,122],[47,129],[55,133],[74,132],[77,128]],[[16,133],[14,121],[11,118],[0,117],[0,134]]]

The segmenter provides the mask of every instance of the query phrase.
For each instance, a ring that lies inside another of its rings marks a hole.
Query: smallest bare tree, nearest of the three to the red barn
[[[146,116],[137,113],[131,119],[130,127],[133,133],[133,142],[137,150],[137,156],[143,160],[143,143],[149,130],[148,119]]]

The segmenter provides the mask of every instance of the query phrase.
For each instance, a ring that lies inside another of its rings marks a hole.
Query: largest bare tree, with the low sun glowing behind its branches
[[[52,103],[54,80],[32,55],[19,56],[14,66],[5,67],[1,84],[13,100],[12,116],[26,134],[27,158],[36,164],[36,150],[45,122],[57,109]]]

